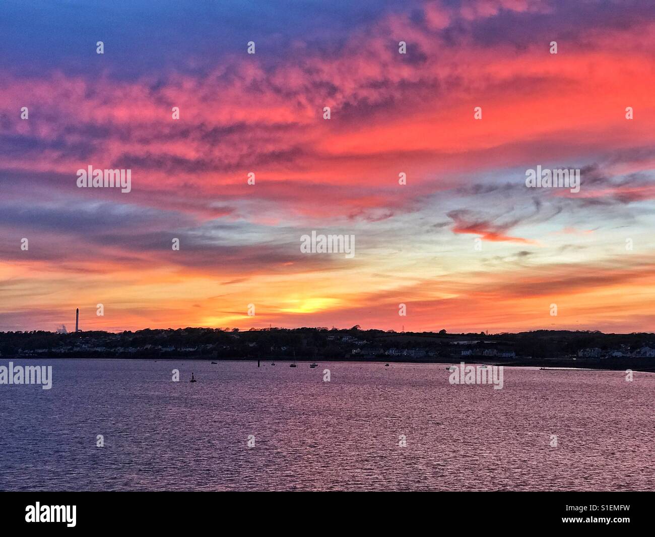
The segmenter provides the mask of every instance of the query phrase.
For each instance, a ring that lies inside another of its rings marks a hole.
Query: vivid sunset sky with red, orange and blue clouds
[[[655,3],[9,0],[0,51],[0,330],[655,330]]]

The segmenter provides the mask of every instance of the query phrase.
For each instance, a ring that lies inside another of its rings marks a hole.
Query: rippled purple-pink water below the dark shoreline
[[[54,380],[0,386],[2,490],[655,490],[655,374],[506,368],[494,390],[443,364],[14,363]]]

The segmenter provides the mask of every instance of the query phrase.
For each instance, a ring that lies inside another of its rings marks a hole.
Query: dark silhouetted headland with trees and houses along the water
[[[0,332],[0,358],[488,363],[655,372],[655,334],[534,330],[448,334],[337,328]]]

